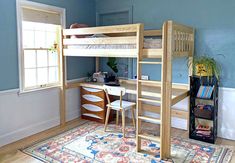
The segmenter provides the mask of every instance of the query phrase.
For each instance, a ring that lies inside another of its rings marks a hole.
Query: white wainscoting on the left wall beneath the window
[[[19,90],[0,92],[0,147],[60,123],[59,89],[50,88],[18,95]],[[67,121],[80,116],[79,89],[69,89]]]

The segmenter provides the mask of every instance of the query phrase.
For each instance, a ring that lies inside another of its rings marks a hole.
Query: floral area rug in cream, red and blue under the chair
[[[160,160],[158,143],[141,141],[143,150],[156,155],[137,153],[135,130],[127,126],[126,133],[126,138],[123,138],[121,126],[108,125],[108,132],[104,132],[103,124],[86,122],[22,151],[43,162],[53,163],[227,163],[233,153],[222,146],[172,138],[172,159]]]

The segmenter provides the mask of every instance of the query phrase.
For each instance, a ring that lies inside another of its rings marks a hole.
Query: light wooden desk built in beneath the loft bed
[[[120,85],[126,88],[126,93],[136,95],[136,81],[135,80],[120,80]],[[143,83],[142,84],[142,95],[143,96],[154,96],[155,98],[160,100],[161,97],[161,83],[153,84]],[[89,87],[89,88],[96,88],[96,89],[103,89],[103,83],[93,83],[93,82],[76,82],[76,83],[69,83],[66,88],[78,88],[78,87]],[[189,87],[187,84],[172,84],[172,106],[179,101],[185,99],[189,96]],[[157,114],[160,114],[160,107],[152,104],[143,104],[142,106],[144,111],[150,111]],[[189,123],[189,110],[185,111],[182,109],[171,109],[171,116],[186,119],[187,123]]]

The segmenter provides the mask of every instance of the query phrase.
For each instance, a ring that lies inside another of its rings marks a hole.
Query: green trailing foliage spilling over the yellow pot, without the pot
[[[209,57],[206,55],[194,57],[193,62],[189,63],[189,64],[193,64],[193,74],[194,75],[197,74],[197,72],[196,72],[197,66],[201,65],[201,66],[203,66],[204,71],[206,71],[207,73],[211,73],[217,79],[220,78],[221,66],[212,57]]]

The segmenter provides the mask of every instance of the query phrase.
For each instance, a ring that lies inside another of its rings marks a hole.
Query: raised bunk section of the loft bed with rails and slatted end
[[[172,56],[192,56],[194,46],[192,29],[180,24],[172,24],[173,33],[170,39],[173,39],[175,45]],[[163,37],[162,30],[138,31],[140,26],[141,24],[129,24],[65,29],[63,30],[65,37],[63,39],[64,56],[137,58],[137,44],[140,35]],[[78,38],[71,36],[78,36]],[[146,38],[144,39],[142,56],[145,58],[161,58],[163,46],[162,39]]]

